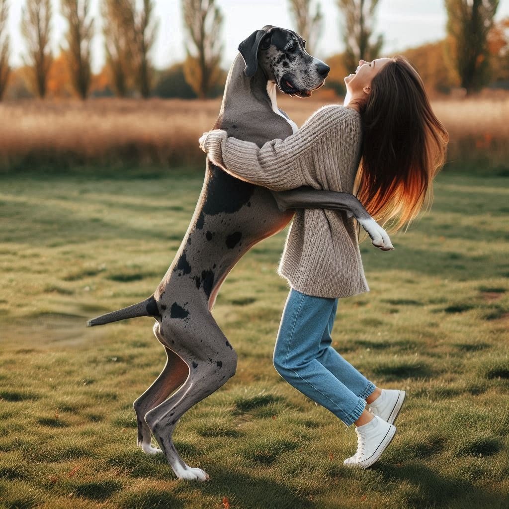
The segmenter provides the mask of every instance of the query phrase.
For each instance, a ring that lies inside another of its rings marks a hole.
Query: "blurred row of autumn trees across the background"
[[[60,54],[50,49],[50,0],[26,0],[20,30],[25,40],[24,66],[11,69],[7,22],[9,0],[0,0],[0,99],[9,97],[116,95],[118,97],[215,97],[222,93],[226,71],[220,66],[224,18],[215,0],[180,0],[186,50],[184,62],[156,70],[151,49],[159,20],[154,0],[101,0],[106,64],[94,75],[91,42],[98,35],[90,0],[60,0],[67,32]],[[312,52],[322,33],[319,0],[287,0],[296,27]],[[341,13],[345,52],[327,59],[332,71],[327,86],[344,93],[343,77],[360,59],[384,54],[384,37],[376,30],[379,0],[336,0]],[[499,0],[444,0],[447,37],[403,50],[417,66],[431,93],[461,87],[467,94],[486,86],[509,88],[509,18],[494,16]]]

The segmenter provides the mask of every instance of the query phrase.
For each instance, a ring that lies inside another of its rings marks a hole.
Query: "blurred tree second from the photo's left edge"
[[[27,0],[21,11],[21,33],[26,40],[25,63],[31,67],[32,87],[40,98],[46,95],[51,67],[51,0]]]

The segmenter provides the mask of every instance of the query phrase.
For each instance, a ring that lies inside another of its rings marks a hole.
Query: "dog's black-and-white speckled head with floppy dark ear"
[[[239,45],[246,76],[254,76],[258,67],[267,80],[274,81],[281,92],[309,97],[319,89],[330,67],[305,50],[305,41],[291,30],[267,25],[253,32]]]

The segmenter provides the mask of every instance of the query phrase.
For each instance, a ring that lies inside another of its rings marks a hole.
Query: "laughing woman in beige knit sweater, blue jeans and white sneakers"
[[[432,195],[447,132],[403,56],[361,60],[345,84],[343,106],[320,108],[285,140],[259,148],[215,130],[204,133],[201,146],[215,164],[253,184],[354,193],[383,227],[389,221],[398,231]],[[296,211],[279,265],[291,290],[273,361],[295,388],[346,426],[355,423],[357,452],[344,463],[367,468],[394,436],[405,391],[376,387],[330,346],[337,299],[370,290],[353,221],[342,211]]]

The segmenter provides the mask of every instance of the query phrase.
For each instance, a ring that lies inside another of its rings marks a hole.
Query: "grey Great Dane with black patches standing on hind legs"
[[[288,95],[309,97],[329,72],[304,45],[295,32],[270,25],[244,40],[228,74],[214,127],[260,146],[292,134],[297,127],[277,108],[276,86]],[[148,454],[162,450],[179,478],[209,476],[186,465],[175,450],[172,434],[177,421],[221,387],[237,367],[237,354],[211,314],[217,292],[243,254],[281,231],[295,208],[344,210],[363,225],[376,247],[392,248],[386,232],[352,194],[307,187],[272,192],[207,161],[191,223],[157,290],[143,302],[88,322],[92,326],[140,316],[156,319],[154,334],[166,350],[167,361],[134,402],[138,444]],[[152,434],[161,449],[152,447]]]

